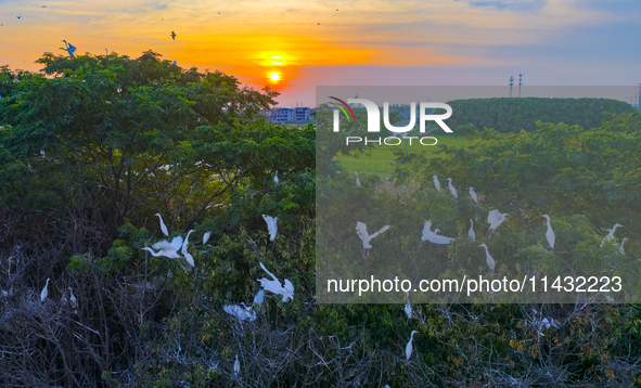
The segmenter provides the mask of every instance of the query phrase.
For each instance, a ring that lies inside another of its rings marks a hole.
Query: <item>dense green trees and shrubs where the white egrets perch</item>
[[[356,187],[337,173],[332,157],[347,151],[337,138],[316,142],[312,127],[255,119],[274,94],[221,73],[181,69],[153,52],[40,62],[47,76],[0,74],[1,386],[629,387],[641,377],[637,305],[414,305],[411,320],[401,303],[317,305],[317,179],[319,201],[411,211],[389,198],[392,183],[367,176]],[[405,202],[454,235],[466,233],[467,185],[483,208],[523,215],[493,241],[497,258],[543,255],[539,214],[549,212],[573,250],[567,260],[601,259],[601,230],[614,222],[639,259],[639,113],[593,128],[476,135],[441,158],[399,150],[395,182],[419,187]],[[459,201],[431,189],[434,173],[460,182]],[[171,237],[195,230],[195,268],[140,250],[165,238],[155,212]],[[261,215],[279,218],[272,242]],[[347,232],[355,238],[351,223]],[[393,241],[375,248],[389,251]],[[464,244],[422,253],[482,254]],[[251,302],[266,276],[259,262],[292,281],[294,300],[267,293],[257,320],[239,322],[222,306]],[[67,287],[77,309],[63,302]],[[542,316],[559,327],[541,327]]]

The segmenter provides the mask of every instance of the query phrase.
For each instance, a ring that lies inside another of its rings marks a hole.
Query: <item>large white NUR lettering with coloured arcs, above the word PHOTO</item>
[[[346,108],[349,111],[349,113],[351,114],[351,118],[354,118],[354,121],[356,122],[356,115],[354,114],[354,111],[351,111],[350,105],[362,104],[368,112],[368,132],[381,132],[381,112],[379,109],[379,106],[376,106],[376,104],[374,104],[370,100],[348,99],[347,102],[345,102],[345,101],[334,98],[334,96],[330,96],[330,99],[336,100],[341,104],[343,104],[343,105],[338,105],[336,103],[331,103],[332,105],[334,105],[334,106],[338,107],[341,111],[343,111],[343,113],[347,117],[348,121],[350,120],[350,117],[349,117],[349,115],[347,115]],[[438,108],[445,109],[446,113],[440,114],[440,115],[434,115],[434,114],[426,113],[426,109],[438,109]],[[439,103],[439,102],[422,102],[419,105],[419,112],[420,112],[420,114],[419,114],[419,131],[421,133],[425,132],[425,122],[426,121],[435,121],[447,133],[453,133],[453,131],[447,126],[447,124],[444,122],[445,119],[448,119],[452,115],[452,108],[448,104],[444,104],[444,103]],[[334,111],[334,132],[339,131],[339,122],[341,122],[341,119],[338,117],[338,111]],[[385,128],[387,128],[387,130],[389,130],[390,132],[403,133],[403,132],[410,131],[412,128],[414,128],[414,125],[416,124],[416,103],[412,102],[410,104],[410,122],[405,127],[394,127],[389,122],[389,103],[384,102],[383,103],[383,124],[385,125]]]

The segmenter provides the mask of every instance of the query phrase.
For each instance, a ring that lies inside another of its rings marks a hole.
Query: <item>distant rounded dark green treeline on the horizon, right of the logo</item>
[[[603,113],[626,114],[633,112],[630,104],[608,99],[543,99],[493,98],[449,101],[452,116],[447,119],[450,128],[466,124],[477,129],[492,128],[498,132],[531,132],[536,121],[564,122],[582,128],[597,128],[605,118]]]

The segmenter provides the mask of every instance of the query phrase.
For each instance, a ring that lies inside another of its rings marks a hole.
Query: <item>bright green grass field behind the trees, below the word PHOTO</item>
[[[463,139],[463,137],[452,135],[435,135],[438,140],[436,145],[421,145],[418,139],[412,141],[412,145],[407,145],[407,140],[400,145],[373,145],[368,147],[363,153],[352,153],[350,155],[336,155],[342,171],[344,173],[376,173],[383,176],[389,176],[394,171],[394,151],[401,148],[407,150],[410,153],[423,153],[427,157],[440,157],[436,152],[441,148],[438,145],[447,145],[452,147],[464,147],[471,143]]]

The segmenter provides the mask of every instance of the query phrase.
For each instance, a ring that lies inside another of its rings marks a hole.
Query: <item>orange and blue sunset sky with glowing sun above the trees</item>
[[[13,69],[39,69],[62,39],[76,54],[151,49],[269,85],[286,106],[313,105],[320,85],[641,82],[640,0],[0,0],[0,24]]]

